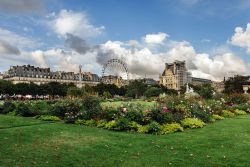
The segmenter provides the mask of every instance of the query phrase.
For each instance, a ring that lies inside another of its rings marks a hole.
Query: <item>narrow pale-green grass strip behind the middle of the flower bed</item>
[[[131,101],[114,101],[114,102],[102,102],[102,107],[121,107],[125,106],[126,104],[139,104],[143,108],[143,110],[153,108],[157,103],[156,102],[147,102],[143,100],[131,100]]]

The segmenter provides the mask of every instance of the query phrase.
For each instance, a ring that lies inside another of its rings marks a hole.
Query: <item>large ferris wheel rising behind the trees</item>
[[[102,77],[105,76],[117,76],[128,80],[128,67],[126,63],[120,59],[110,59],[103,65]]]

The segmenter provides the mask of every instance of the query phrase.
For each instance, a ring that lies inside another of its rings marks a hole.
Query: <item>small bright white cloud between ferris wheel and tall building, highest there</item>
[[[143,39],[148,44],[162,44],[168,34],[159,32],[157,34],[147,34]]]

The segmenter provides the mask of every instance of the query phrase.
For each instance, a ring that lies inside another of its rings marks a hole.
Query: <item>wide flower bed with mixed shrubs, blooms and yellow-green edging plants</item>
[[[228,102],[226,98],[204,100],[200,97],[167,96],[150,102],[150,105],[146,101],[101,105],[98,97],[86,96],[81,100],[6,101],[0,104],[0,113],[37,117],[45,121],[63,120],[65,123],[114,131],[168,134],[202,128],[216,120],[247,114],[250,104],[236,102]]]

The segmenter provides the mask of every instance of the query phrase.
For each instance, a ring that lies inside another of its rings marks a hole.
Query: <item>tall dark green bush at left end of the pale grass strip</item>
[[[102,108],[98,97],[86,96],[83,100],[85,119],[97,119],[102,115]]]

